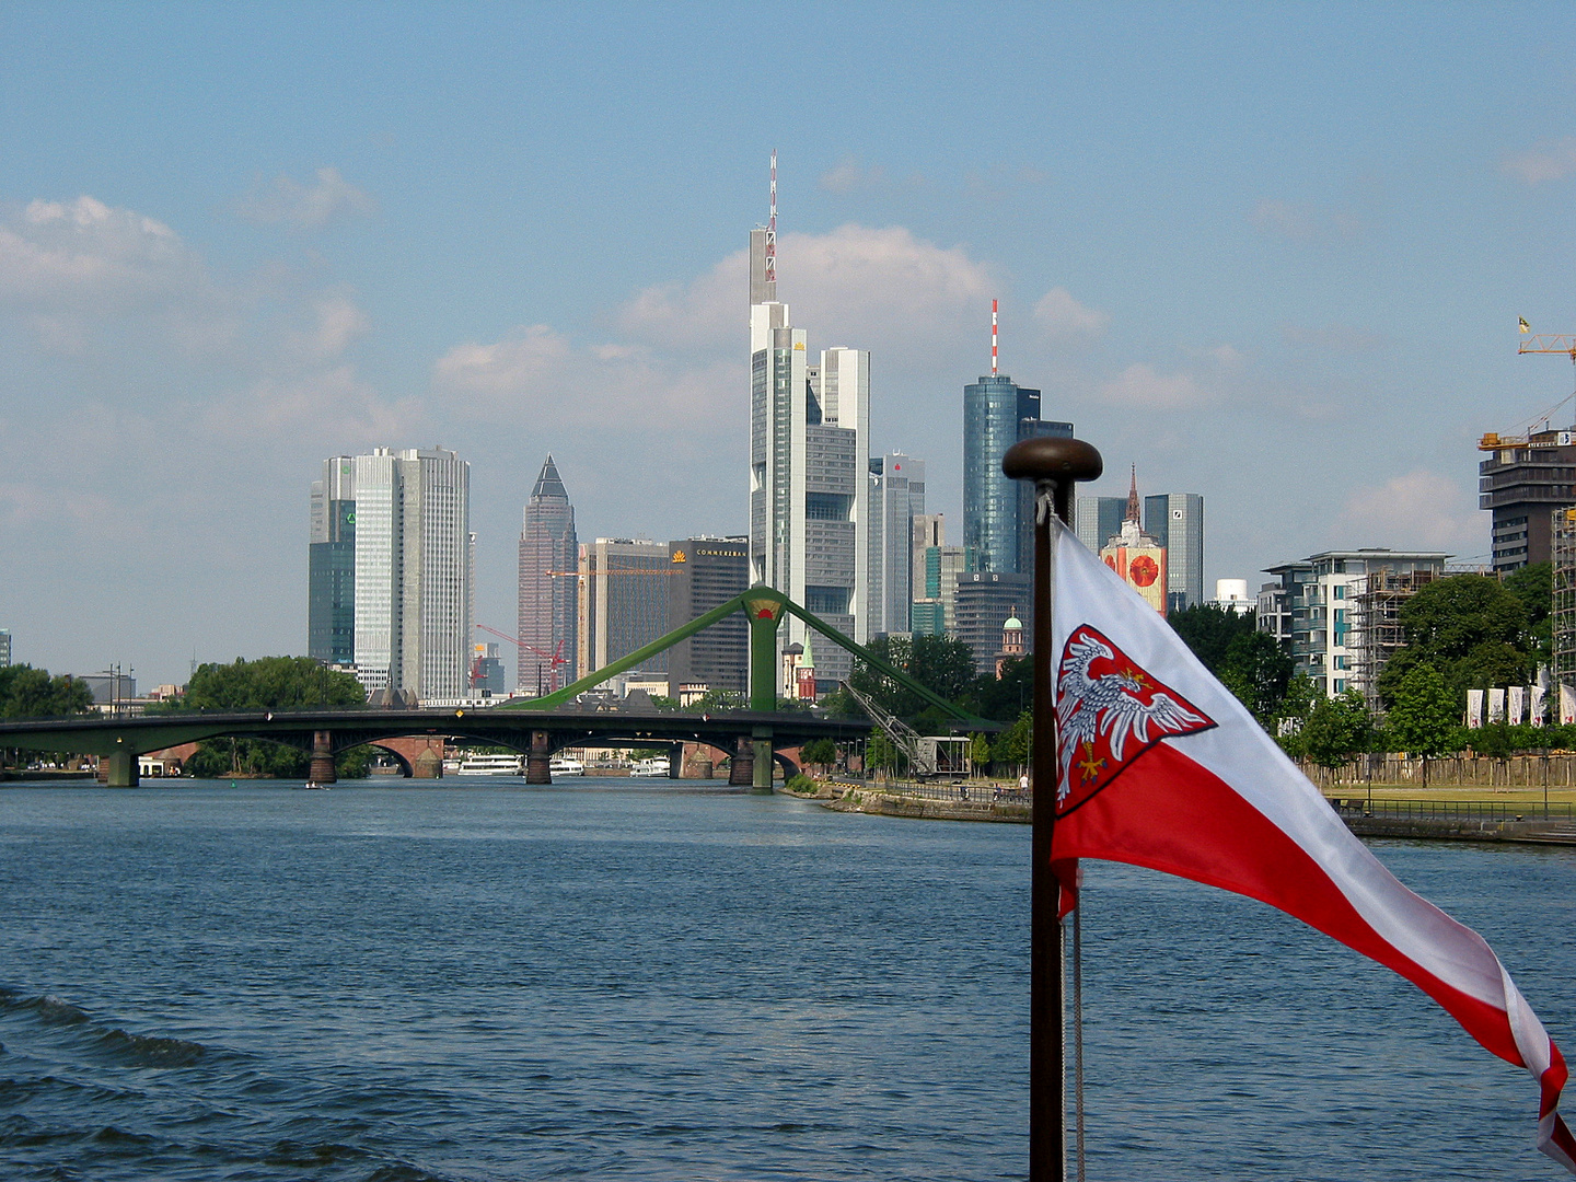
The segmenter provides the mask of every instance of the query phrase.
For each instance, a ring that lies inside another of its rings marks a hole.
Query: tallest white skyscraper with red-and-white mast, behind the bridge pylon
[[[856,641],[870,640],[870,353],[823,348],[777,299],[777,153],[771,219],[750,232],[750,580],[768,583]],[[783,621],[779,645],[807,645]],[[853,657],[815,638],[818,686]],[[831,686],[826,686],[831,689]]]

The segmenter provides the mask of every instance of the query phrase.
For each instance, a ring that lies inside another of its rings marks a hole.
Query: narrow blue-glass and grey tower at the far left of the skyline
[[[356,659],[356,460],[323,460],[312,482],[306,652],[328,665]]]

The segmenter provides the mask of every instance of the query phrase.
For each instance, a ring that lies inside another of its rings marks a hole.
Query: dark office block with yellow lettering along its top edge
[[[686,537],[668,542],[668,626],[692,619],[728,602],[750,585],[749,537]],[[750,689],[750,624],[734,611],[668,649],[668,695],[695,697],[704,690],[747,693]],[[700,687],[704,686],[704,690]]]

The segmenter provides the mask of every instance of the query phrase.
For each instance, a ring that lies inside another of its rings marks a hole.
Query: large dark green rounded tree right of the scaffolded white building
[[[1535,578],[1527,578],[1518,586],[1527,591],[1533,583]],[[1474,687],[1518,686],[1532,678],[1535,640],[1527,629],[1527,608],[1497,578],[1436,580],[1401,604],[1398,621],[1406,645],[1379,675],[1379,698],[1385,706],[1417,665],[1439,670],[1456,701]]]

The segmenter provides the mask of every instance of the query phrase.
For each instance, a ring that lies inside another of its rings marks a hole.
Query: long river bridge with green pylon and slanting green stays
[[[632,714],[585,711],[572,703],[580,695],[619,673],[635,668],[701,629],[744,611],[750,621],[749,709],[716,714]],[[362,744],[389,739],[443,736],[511,747],[526,756],[526,782],[552,783],[548,760],[563,747],[605,745],[610,742],[667,744],[682,750],[686,742],[717,747],[731,758],[730,783],[771,791],[772,764],[788,774],[796,771],[782,753],[812,739],[849,741],[870,733],[868,722],[821,719],[804,711],[777,709],[777,629],[785,615],[804,619],[870,668],[914,690],[925,701],[950,714],[969,730],[996,731],[999,723],[976,719],[957,704],[920,686],[903,670],[849,640],[840,630],[769,586],[752,586],[714,607],[689,624],[635,649],[586,678],[541,698],[514,700],[485,709],[333,709],[333,711],[255,711],[236,714],[172,712],[140,717],[76,716],[69,719],[28,719],[0,723],[0,747],[96,755],[107,761],[110,786],[137,783],[137,756],[184,742],[236,738],[287,744],[310,755],[310,779],[333,783],[334,756]],[[397,747],[392,747],[396,750]],[[402,763],[403,755],[399,755]],[[671,756],[676,763],[678,755]]]

